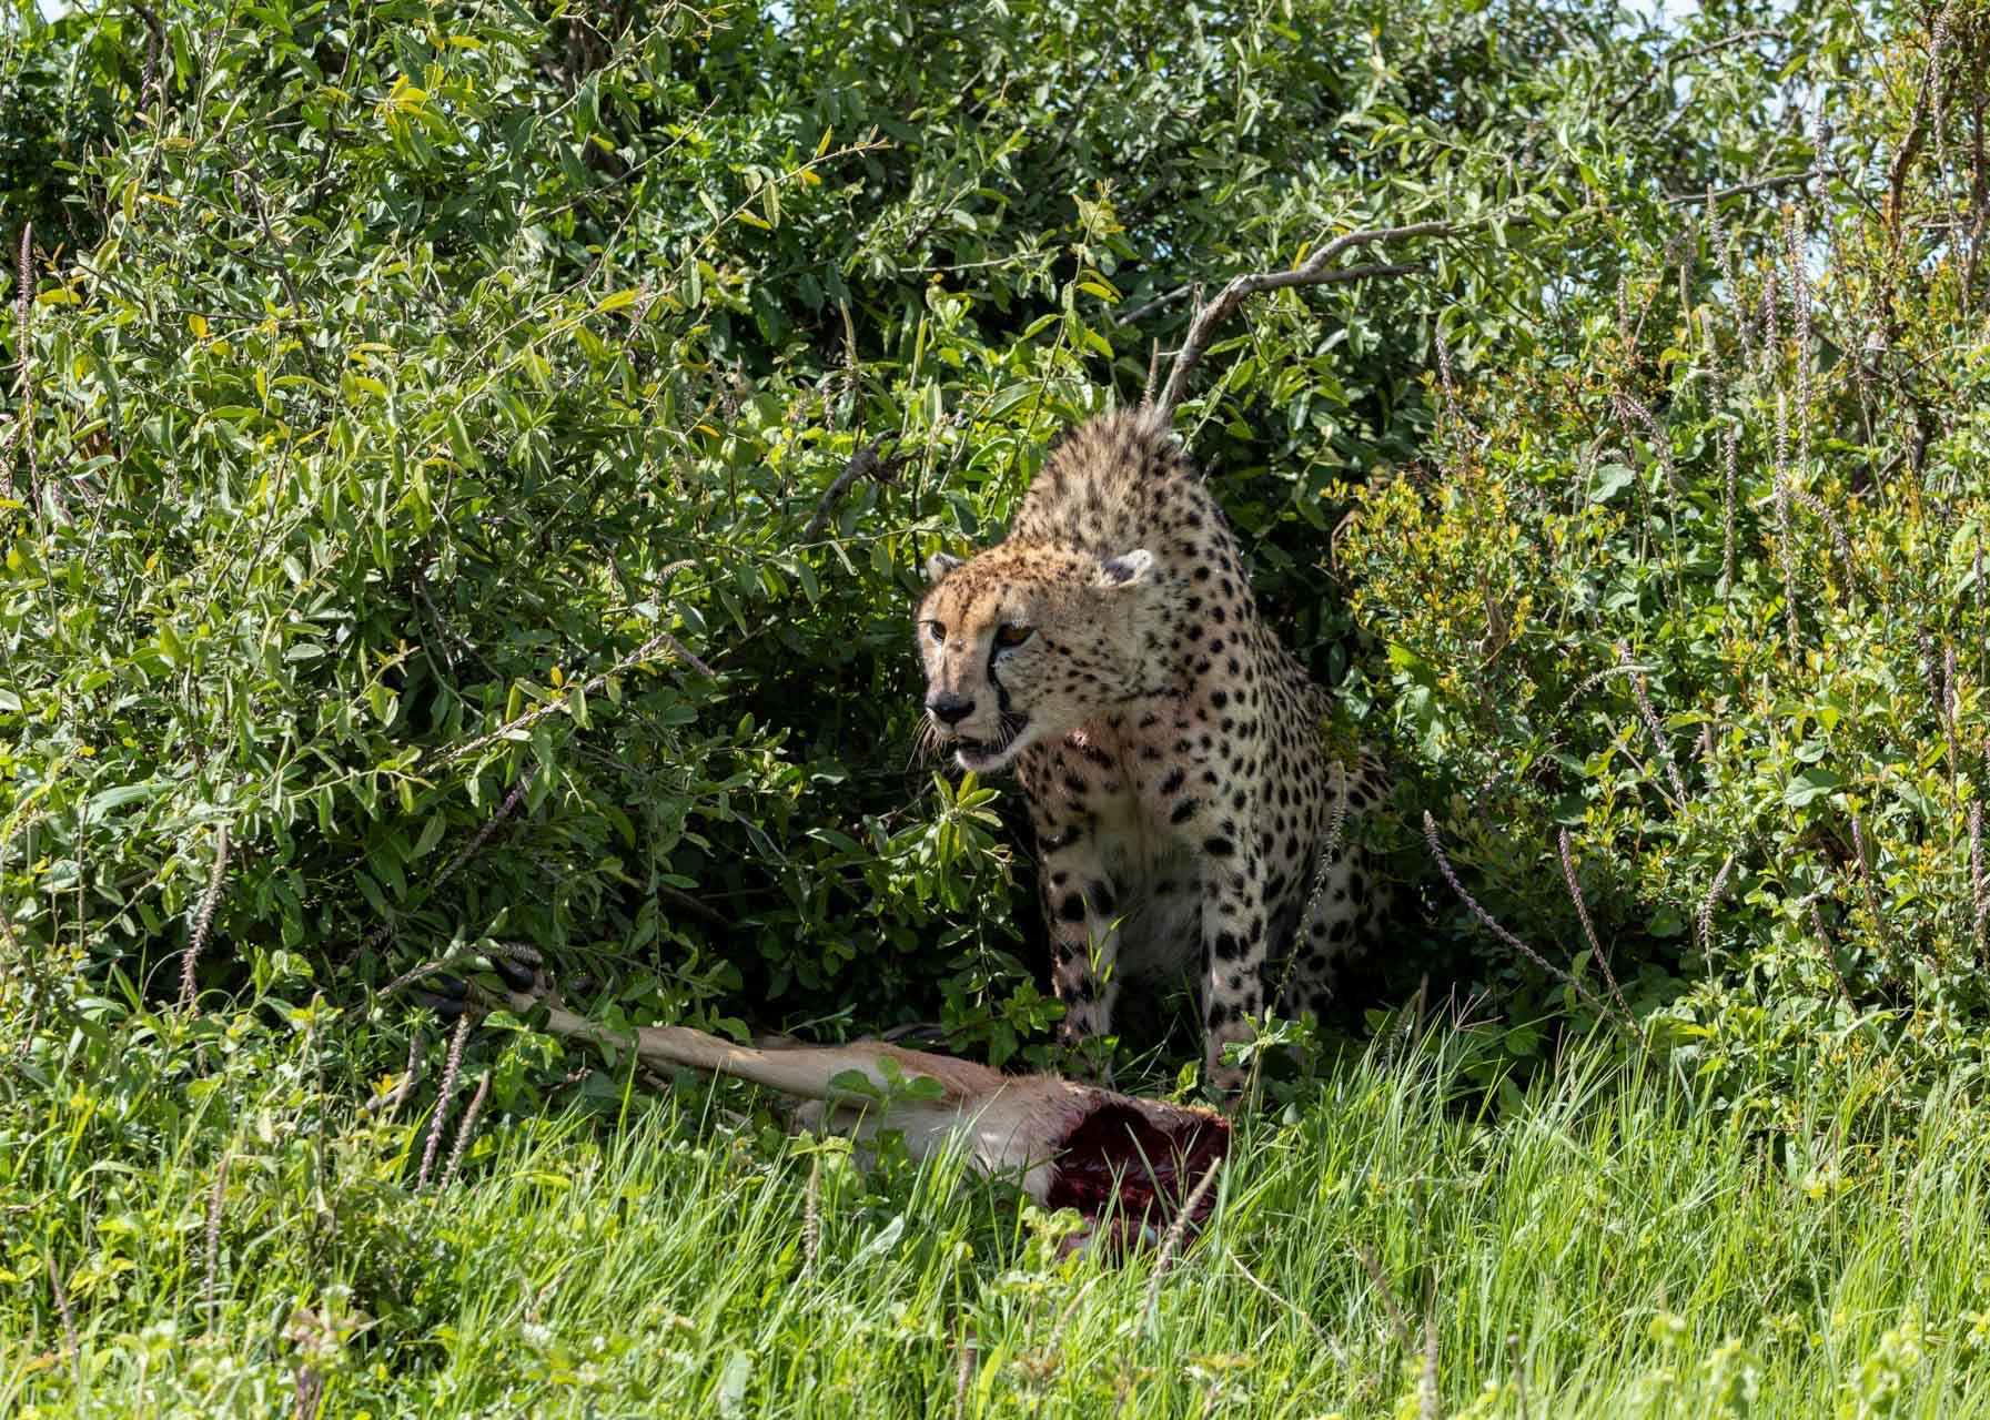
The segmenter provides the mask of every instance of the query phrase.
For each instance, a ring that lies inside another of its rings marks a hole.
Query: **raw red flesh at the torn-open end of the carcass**
[[[1114,1235],[1138,1235],[1144,1223],[1174,1221],[1174,1209],[1228,1152],[1228,1120],[1192,1116],[1164,1130],[1132,1106],[1108,1100],[1065,1136],[1045,1203],[1073,1207],[1093,1221],[1110,1217]],[[1158,1217],[1150,1217],[1156,1203]],[[1214,1191],[1204,1191],[1188,1225],[1200,1227],[1214,1205]]]

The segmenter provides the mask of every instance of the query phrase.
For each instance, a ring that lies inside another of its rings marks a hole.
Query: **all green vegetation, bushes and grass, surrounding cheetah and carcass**
[[[1980,0],[16,0],[0,1410],[1980,1410],[1986,72]],[[1178,418],[1403,903],[1194,1249],[392,988],[1049,1060],[919,567],[1409,223]]]

